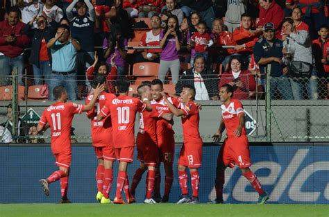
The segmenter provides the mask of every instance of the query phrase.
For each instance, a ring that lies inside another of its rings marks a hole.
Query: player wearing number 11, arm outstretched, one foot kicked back
[[[51,174],[47,179],[40,180],[44,194],[49,196],[49,184],[60,180],[60,189],[62,192],[62,200],[60,203],[70,203],[67,198],[67,189],[69,182],[69,167],[71,164],[71,125],[74,114],[81,114],[92,110],[96,103],[96,98],[103,92],[103,85],[97,85],[94,89],[95,98],[88,105],[77,105],[67,102],[67,92],[65,87],[57,86],[53,89],[53,96],[56,103],[47,107],[42,113],[37,131],[42,132],[47,128],[51,128],[51,150],[56,159],[56,165],[59,170]]]

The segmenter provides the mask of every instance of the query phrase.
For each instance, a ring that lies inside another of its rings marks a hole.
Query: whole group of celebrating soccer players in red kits
[[[96,200],[101,204],[124,204],[135,202],[135,189],[147,170],[146,196],[144,203],[168,202],[171,185],[174,180],[174,130],[173,116],[182,117],[183,146],[178,159],[178,178],[182,196],[178,204],[199,203],[199,168],[202,162],[203,141],[199,133],[199,110],[201,105],[194,103],[195,89],[185,86],[180,97],[167,94],[161,80],[144,82],[137,87],[138,97],[128,96],[130,82],[126,78],[116,81],[118,95],[107,92],[106,76],[94,76],[94,89],[86,100],[86,105],[67,103],[64,87],[53,89],[56,103],[44,110],[37,130],[44,132],[51,128],[51,150],[59,167],[47,179],[40,180],[42,189],[49,196],[49,184],[60,180],[61,203],[70,203],[67,198],[69,168],[71,164],[70,129],[74,114],[87,112],[92,125],[92,146],[98,160],[96,182],[98,192]],[[244,129],[244,109],[233,96],[233,87],[223,85],[219,91],[222,118],[219,129],[214,134],[219,142],[226,128],[226,139],[221,146],[217,159],[215,180],[217,198],[214,203],[223,203],[224,171],[235,164],[242,174],[259,193],[258,202],[264,203],[269,195],[262,189],[258,178],[249,169],[251,166],[248,138]],[[129,185],[127,167],[133,162],[135,149],[135,116],[139,112],[140,130],[137,134],[137,158],[140,167]],[[114,200],[109,197],[113,183],[113,163],[119,162],[117,189]],[[165,191],[160,194],[160,164],[165,168]],[[192,197],[187,188],[187,168],[191,177]],[[122,190],[126,202],[122,198]]]

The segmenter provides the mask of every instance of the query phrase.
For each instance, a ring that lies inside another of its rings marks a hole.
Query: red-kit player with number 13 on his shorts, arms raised
[[[196,103],[194,103],[195,89],[188,85],[183,87],[183,91],[180,93],[180,105],[178,106],[180,109],[171,104],[165,93],[162,92],[162,96],[171,112],[173,112],[175,116],[182,116],[183,146],[178,159],[178,177],[180,188],[182,189],[182,198],[178,200],[177,203],[200,203],[199,168],[202,162],[203,142],[199,132],[199,108]],[[192,198],[189,198],[187,190],[187,167],[191,175]]]

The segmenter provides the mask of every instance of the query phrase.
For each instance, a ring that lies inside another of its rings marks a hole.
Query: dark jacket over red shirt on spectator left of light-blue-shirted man
[[[46,40],[46,43],[49,42],[55,35],[57,31],[58,24],[56,21],[50,22],[51,26],[47,26],[44,31],[40,31],[40,29],[32,29],[30,24],[26,24],[24,26],[24,33],[31,35],[34,32],[33,37],[31,37],[31,55],[28,61],[31,64],[35,64],[37,67],[40,67],[40,49],[41,49],[41,41],[42,38]],[[48,49],[49,62],[51,62],[51,51]]]

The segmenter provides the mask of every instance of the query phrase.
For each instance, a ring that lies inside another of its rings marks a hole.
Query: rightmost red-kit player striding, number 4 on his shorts
[[[226,139],[221,146],[217,158],[216,171],[216,199],[213,203],[223,203],[223,185],[225,182],[225,169],[230,166],[233,168],[235,164],[241,169],[242,175],[251,183],[251,186],[258,192],[258,203],[264,204],[269,195],[258,181],[256,175],[250,170],[251,158],[244,128],[244,108],[239,100],[233,99],[234,89],[230,85],[223,85],[219,90],[219,96],[223,104],[221,105],[221,123],[219,129],[212,136],[215,142],[221,140],[221,134],[226,128]]]

